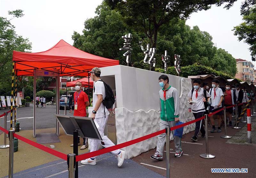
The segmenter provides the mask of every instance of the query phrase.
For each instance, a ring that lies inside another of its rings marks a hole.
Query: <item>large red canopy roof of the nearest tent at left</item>
[[[119,65],[118,60],[95,56],[77,49],[64,40],[38,53],[13,51],[17,76],[33,76],[34,69],[60,70],[60,76],[88,76],[93,67]]]

